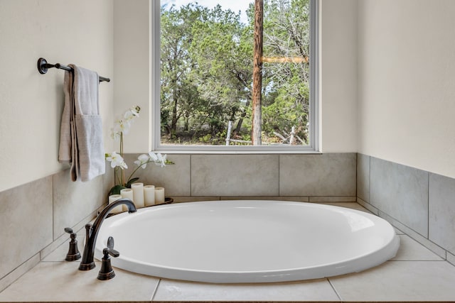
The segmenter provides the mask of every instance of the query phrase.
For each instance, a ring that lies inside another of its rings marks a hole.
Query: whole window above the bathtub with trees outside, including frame
[[[154,149],[317,151],[317,0],[209,2],[152,1]]]

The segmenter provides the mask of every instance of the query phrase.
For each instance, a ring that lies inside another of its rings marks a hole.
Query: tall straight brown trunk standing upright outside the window
[[[264,1],[255,0],[255,45],[253,55],[252,145],[262,144],[262,29]]]

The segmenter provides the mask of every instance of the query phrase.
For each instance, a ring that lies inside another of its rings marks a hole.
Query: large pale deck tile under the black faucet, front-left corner
[[[100,268],[100,262],[95,264]],[[0,302],[33,302],[37,298],[41,302],[150,301],[159,282],[155,277],[118,268],[114,279],[100,281],[96,268],[82,271],[78,270],[77,262],[41,262],[23,275],[20,283],[0,293]],[[24,292],[24,285],[30,291]]]

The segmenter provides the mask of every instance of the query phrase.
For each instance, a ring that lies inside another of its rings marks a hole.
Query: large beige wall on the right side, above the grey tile
[[[362,0],[358,152],[455,177],[455,1]]]

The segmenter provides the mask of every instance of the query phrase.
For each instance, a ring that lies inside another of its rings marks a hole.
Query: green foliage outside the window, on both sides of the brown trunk
[[[254,6],[240,14],[188,4],[161,8],[161,136],[168,142],[225,144],[228,121],[233,135],[250,140]],[[309,0],[264,1],[264,56],[309,57]],[[292,126],[308,143],[309,63],[263,66],[262,130]],[[186,138],[186,139],[184,139]],[[265,141],[267,143],[267,141]]]

